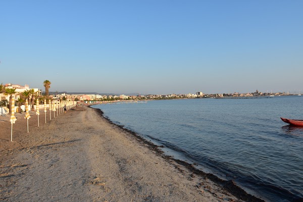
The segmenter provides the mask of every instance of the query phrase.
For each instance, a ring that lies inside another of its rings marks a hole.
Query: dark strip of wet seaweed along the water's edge
[[[234,196],[236,196],[237,198],[239,198],[241,200],[244,200],[244,201],[265,201],[265,200],[263,200],[261,198],[258,198],[258,197],[254,196],[254,195],[251,195],[251,194],[247,193],[241,187],[239,187],[233,180],[223,180],[223,179],[217,177],[216,175],[214,175],[212,173],[205,173],[205,172],[203,172],[203,171],[195,168],[193,164],[189,164],[189,163],[187,163],[185,161],[174,159],[172,156],[165,155],[164,151],[160,149],[163,146],[158,146],[158,145],[154,144],[153,142],[144,139],[143,137],[141,137],[136,132],[134,132],[132,130],[129,130],[127,128],[124,128],[123,125],[119,125],[119,124],[113,123],[109,118],[107,118],[107,117],[104,116],[104,112],[102,110],[96,109],[96,108],[92,108],[92,109],[96,110],[99,113],[99,116],[102,116],[110,124],[116,125],[119,128],[121,128],[122,130],[125,130],[127,133],[130,133],[131,135],[135,136],[139,142],[144,143],[150,149],[155,150],[157,152],[157,154],[159,156],[161,156],[163,159],[168,160],[168,161],[170,161],[170,160],[174,161],[177,164],[184,166],[186,169],[188,169],[188,171],[192,172],[193,174],[201,176],[201,177],[205,177],[205,178],[208,178],[208,179],[212,180],[213,182],[217,183],[218,185],[221,185],[228,192],[230,192],[231,194],[233,194]]]

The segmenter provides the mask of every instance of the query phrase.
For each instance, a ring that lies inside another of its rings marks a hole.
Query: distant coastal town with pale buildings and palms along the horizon
[[[0,84],[0,115],[10,114],[12,97],[14,96],[14,105],[15,111],[17,113],[26,112],[26,101],[29,103],[31,111],[34,111],[35,105],[45,105],[45,102],[60,103],[73,103],[73,104],[107,104],[115,102],[147,102],[147,100],[165,100],[165,99],[193,99],[193,98],[258,98],[258,97],[272,97],[272,96],[285,96],[285,95],[301,95],[299,93],[289,93],[289,92],[260,92],[258,89],[255,92],[247,93],[215,93],[215,94],[205,94],[201,91],[196,93],[187,93],[187,94],[105,94],[105,93],[68,93],[68,92],[50,92],[51,81],[45,80],[43,86],[45,90],[43,91],[40,88],[31,88],[29,85],[25,84],[24,86],[19,84]]]

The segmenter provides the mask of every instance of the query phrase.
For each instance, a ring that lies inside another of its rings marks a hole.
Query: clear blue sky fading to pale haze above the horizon
[[[1,1],[0,83],[303,93],[303,1]]]

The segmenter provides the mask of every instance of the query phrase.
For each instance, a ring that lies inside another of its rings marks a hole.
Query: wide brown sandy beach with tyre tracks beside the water
[[[262,201],[232,182],[164,156],[102,112],[78,106],[49,120],[0,117],[2,201]]]

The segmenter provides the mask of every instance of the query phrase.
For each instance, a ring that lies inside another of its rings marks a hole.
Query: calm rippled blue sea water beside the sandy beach
[[[303,96],[247,99],[155,100],[147,104],[96,105],[169,155],[234,180],[267,201],[303,197]]]

